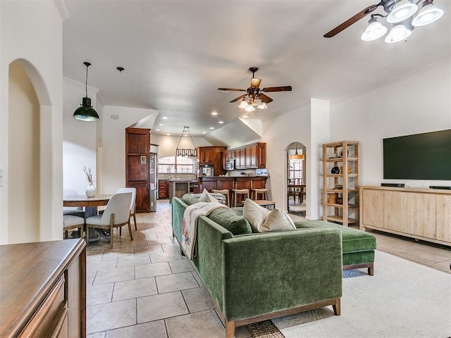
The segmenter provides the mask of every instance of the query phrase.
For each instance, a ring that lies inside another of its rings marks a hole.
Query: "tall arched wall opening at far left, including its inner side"
[[[57,239],[51,221],[51,151],[47,87],[31,63],[18,59],[8,67],[8,243]]]

